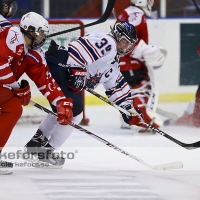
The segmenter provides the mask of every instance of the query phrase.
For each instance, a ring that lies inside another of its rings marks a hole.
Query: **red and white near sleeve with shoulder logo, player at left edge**
[[[7,21],[0,32],[0,85],[19,88],[13,71],[18,71],[25,55],[24,38],[18,27],[8,26]],[[1,24],[1,25],[2,25]]]

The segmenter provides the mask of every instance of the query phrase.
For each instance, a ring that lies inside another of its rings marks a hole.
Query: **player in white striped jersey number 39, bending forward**
[[[94,31],[65,47],[57,45],[55,41],[51,42],[46,52],[46,60],[53,78],[65,96],[70,95],[73,98],[76,116],[73,118],[74,123],[79,123],[82,118],[83,100],[80,95],[83,86],[86,84],[94,89],[103,84],[111,101],[133,112],[132,116],[122,114],[124,121],[137,126],[143,125],[141,112],[137,108],[134,109],[130,87],[119,70],[119,55],[132,51],[136,40],[134,26],[121,21],[112,28],[111,33]],[[26,144],[25,150],[33,154],[31,150],[37,153],[43,148],[59,149],[72,131],[72,126],[60,126],[54,116],[48,115],[40,124],[37,133]],[[49,166],[51,168],[61,168],[64,164],[54,158],[51,160],[55,161],[55,164],[51,163]],[[49,160],[46,162],[50,163]]]

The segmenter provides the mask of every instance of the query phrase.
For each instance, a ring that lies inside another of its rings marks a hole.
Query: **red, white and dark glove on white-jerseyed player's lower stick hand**
[[[129,125],[135,125],[135,126],[144,126],[143,124],[143,116],[142,116],[142,112],[138,109],[130,109],[128,110],[131,113],[131,116],[128,116],[124,113],[122,113],[122,118],[124,119],[124,121],[129,124]]]

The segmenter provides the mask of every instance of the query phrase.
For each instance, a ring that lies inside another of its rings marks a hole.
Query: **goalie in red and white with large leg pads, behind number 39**
[[[131,87],[134,103],[141,110],[144,121],[159,128],[163,122],[156,113],[158,89],[153,69],[162,66],[167,51],[148,44],[146,16],[151,17],[154,0],[130,0],[130,3],[131,5],[120,13],[116,23],[126,20],[133,24],[138,41],[131,53],[120,57],[120,71]],[[129,126],[121,120],[121,128],[136,127]],[[147,130],[139,128],[140,132]]]

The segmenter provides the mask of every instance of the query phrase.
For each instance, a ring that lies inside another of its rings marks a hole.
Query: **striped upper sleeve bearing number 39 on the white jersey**
[[[100,58],[108,61],[112,60],[116,53],[116,44],[112,36],[94,31],[68,45],[67,65],[86,66]]]

